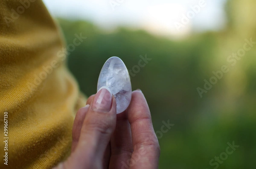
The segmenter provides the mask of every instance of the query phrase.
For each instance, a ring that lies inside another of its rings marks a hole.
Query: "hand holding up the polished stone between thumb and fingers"
[[[147,101],[132,92],[125,112],[103,88],[79,109],[73,124],[72,152],[55,169],[157,169],[160,146]]]

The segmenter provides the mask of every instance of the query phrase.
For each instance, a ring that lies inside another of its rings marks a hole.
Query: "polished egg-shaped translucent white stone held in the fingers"
[[[131,80],[124,62],[116,56],[109,58],[99,74],[97,91],[107,86],[116,98],[116,113],[122,113],[131,102]]]

